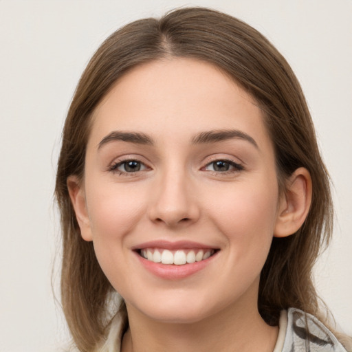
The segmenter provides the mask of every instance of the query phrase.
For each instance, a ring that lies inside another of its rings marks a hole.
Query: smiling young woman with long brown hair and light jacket
[[[333,210],[307,104],[238,19],[184,8],[113,33],[72,100],[56,197],[79,351],[347,351],[312,283]]]

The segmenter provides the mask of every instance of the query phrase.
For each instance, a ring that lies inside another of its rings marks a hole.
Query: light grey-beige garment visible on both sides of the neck
[[[97,352],[120,352],[126,317],[113,318],[107,340]],[[282,311],[273,352],[347,352],[316,317],[296,308]]]

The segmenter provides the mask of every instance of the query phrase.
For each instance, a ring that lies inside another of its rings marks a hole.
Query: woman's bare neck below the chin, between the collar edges
[[[129,329],[122,352],[272,352],[278,335],[278,327],[263,321],[256,304],[225,307],[191,323],[152,320],[129,305],[127,311]]]

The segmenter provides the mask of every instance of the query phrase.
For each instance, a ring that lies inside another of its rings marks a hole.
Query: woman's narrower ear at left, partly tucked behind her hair
[[[82,182],[75,175],[69,176],[67,177],[67,188],[80,227],[80,234],[85,241],[92,241],[91,225],[85,201],[85,189]]]

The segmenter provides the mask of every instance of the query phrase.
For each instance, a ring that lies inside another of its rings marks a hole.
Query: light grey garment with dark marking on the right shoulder
[[[298,351],[347,352],[336,336],[315,316],[289,308],[283,352]]]

